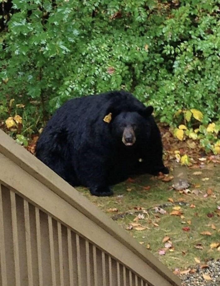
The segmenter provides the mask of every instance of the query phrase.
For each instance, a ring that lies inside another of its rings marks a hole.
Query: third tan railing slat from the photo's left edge
[[[31,254],[31,241],[30,241],[30,214],[29,214],[29,204],[25,200],[24,200],[24,213],[25,213],[25,240],[26,240],[26,251],[27,251],[28,286],[33,286],[32,254]]]

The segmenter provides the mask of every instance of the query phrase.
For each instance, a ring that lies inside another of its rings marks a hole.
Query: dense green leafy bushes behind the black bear
[[[218,0],[12,2],[0,36],[0,117],[18,113],[23,133],[70,98],[115,89],[152,104],[162,122],[190,108],[204,123],[219,119]]]

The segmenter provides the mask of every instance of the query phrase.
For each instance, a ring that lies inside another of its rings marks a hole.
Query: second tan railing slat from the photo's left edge
[[[20,286],[20,262],[19,262],[19,249],[18,249],[18,225],[16,214],[15,193],[10,191],[11,198],[11,216],[12,216],[12,235],[14,247],[14,268],[15,268],[15,284]]]

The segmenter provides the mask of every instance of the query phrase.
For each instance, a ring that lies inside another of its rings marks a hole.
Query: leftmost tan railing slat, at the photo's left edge
[[[2,204],[2,187],[0,184],[0,262],[2,286],[7,286],[7,270],[6,270],[6,255],[5,255],[5,234],[3,224],[3,204]]]

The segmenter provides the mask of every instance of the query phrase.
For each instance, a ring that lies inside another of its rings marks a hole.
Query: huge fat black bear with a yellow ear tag
[[[112,195],[110,186],[130,175],[167,174],[152,112],[125,91],[69,100],[48,121],[36,157],[96,196]]]

